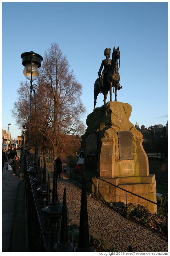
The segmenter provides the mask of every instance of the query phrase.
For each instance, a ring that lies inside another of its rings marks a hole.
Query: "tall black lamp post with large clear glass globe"
[[[32,85],[32,81],[36,80],[39,76],[39,68],[41,67],[41,61],[43,60],[42,56],[34,52],[25,52],[21,54],[22,65],[24,68],[24,76],[30,80],[30,119],[29,119],[29,149],[31,141],[31,104],[32,104],[32,89],[33,86],[37,88],[35,84]],[[35,93],[35,90],[34,90]],[[35,108],[36,111],[36,108]],[[36,113],[35,113],[36,115]],[[37,127],[36,127],[37,135]]]

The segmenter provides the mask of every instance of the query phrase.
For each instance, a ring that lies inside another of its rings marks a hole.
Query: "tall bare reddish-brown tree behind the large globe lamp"
[[[38,134],[51,142],[55,157],[65,140],[71,135],[83,134],[85,129],[82,122],[85,107],[80,98],[82,85],[69,68],[59,46],[51,44],[51,48],[45,52],[37,80],[36,111]],[[30,90],[27,82],[21,82],[18,94],[12,113],[17,124],[22,126],[29,122]],[[35,126],[33,115],[32,106],[32,127]]]

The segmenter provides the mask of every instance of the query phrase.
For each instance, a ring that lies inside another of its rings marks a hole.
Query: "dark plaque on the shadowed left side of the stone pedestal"
[[[90,134],[86,139],[85,170],[97,173],[97,134]]]

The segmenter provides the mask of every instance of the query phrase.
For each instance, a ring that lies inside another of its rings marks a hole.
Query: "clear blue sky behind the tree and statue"
[[[120,84],[117,100],[132,106],[130,121],[141,127],[168,120],[169,1],[1,1],[1,128],[21,134],[10,109],[25,81],[21,54],[44,56],[57,43],[83,86],[87,115],[93,112],[93,88],[104,49],[119,46]],[[114,99],[114,95],[112,96]],[[96,107],[104,96],[99,94]],[[109,101],[109,95],[107,98]]]

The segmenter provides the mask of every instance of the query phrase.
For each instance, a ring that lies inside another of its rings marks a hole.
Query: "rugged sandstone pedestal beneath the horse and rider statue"
[[[88,115],[87,129],[81,139],[85,153],[85,171],[121,188],[156,202],[155,175],[149,174],[148,157],[143,149],[143,135],[129,121],[132,107],[128,103],[108,102]],[[93,178],[93,193],[96,192]],[[125,203],[125,192],[98,180],[99,197],[106,202]],[[157,207],[127,193],[128,203]]]

